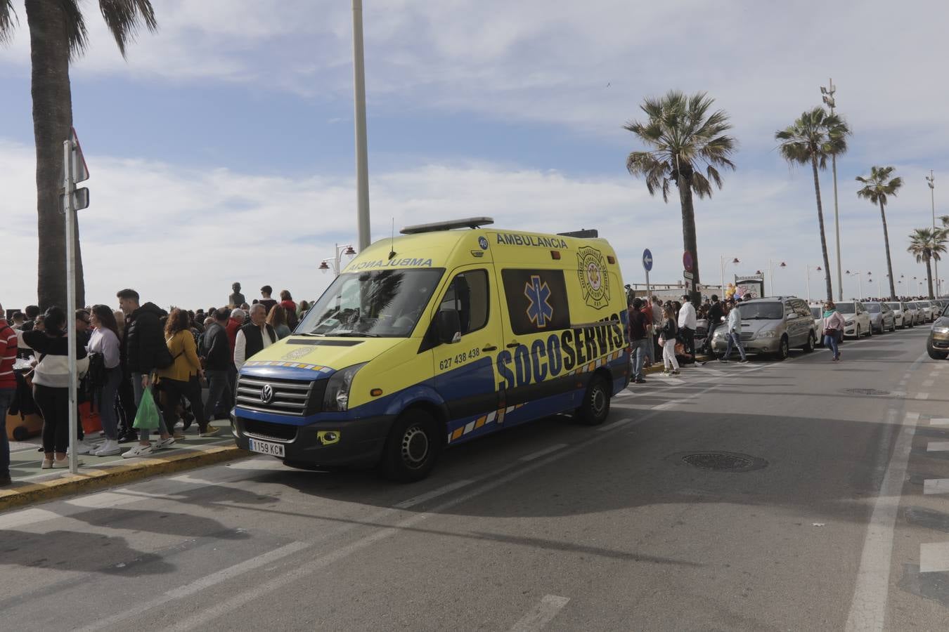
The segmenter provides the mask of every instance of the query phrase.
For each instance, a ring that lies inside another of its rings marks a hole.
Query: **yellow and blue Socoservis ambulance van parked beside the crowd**
[[[595,231],[409,226],[345,266],[241,368],[237,444],[419,480],[446,446],[556,413],[601,424],[629,383],[626,295]]]

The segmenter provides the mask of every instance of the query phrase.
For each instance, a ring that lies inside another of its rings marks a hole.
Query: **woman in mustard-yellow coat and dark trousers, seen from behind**
[[[198,377],[204,377],[201,361],[197,357],[195,336],[191,333],[191,318],[188,313],[174,309],[165,322],[165,343],[174,362],[166,369],[158,370],[158,388],[163,393],[161,413],[165,427],[174,433],[177,424],[177,406],[184,396],[191,402],[191,409],[197,421],[198,433],[208,437],[217,432],[210,430],[204,418],[204,405],[201,403],[201,384]]]

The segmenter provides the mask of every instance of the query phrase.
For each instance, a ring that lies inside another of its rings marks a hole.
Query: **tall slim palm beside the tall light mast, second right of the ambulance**
[[[821,183],[817,171],[827,169],[828,157],[847,152],[847,136],[850,128],[842,117],[828,114],[816,107],[801,114],[794,123],[774,134],[779,142],[778,151],[789,163],[806,165],[814,173],[814,194],[817,196],[817,224],[820,226],[821,249],[824,251],[824,278],[827,280],[828,300],[833,300],[830,285],[830,260],[828,241],[824,232],[824,206],[821,204]]]

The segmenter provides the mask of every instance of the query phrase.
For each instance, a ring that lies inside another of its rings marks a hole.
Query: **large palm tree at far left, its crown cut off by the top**
[[[33,137],[36,142],[36,210],[39,237],[39,305],[65,305],[65,226],[60,212],[63,188],[63,141],[72,127],[69,63],[86,48],[85,20],[79,0],[25,0],[32,65]],[[135,40],[140,27],[158,27],[149,0],[99,0],[102,18],[119,52]],[[13,0],[0,0],[0,44],[18,25]],[[83,258],[76,230],[76,302],[85,304]]]

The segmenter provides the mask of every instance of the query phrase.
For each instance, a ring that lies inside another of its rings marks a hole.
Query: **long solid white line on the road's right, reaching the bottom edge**
[[[888,424],[896,421],[897,412],[889,411]],[[912,428],[919,413],[906,413],[902,427]],[[889,592],[890,559],[893,555],[893,531],[900,507],[906,463],[913,447],[913,438],[898,432],[893,455],[886,466],[880,493],[873,504],[873,514],[866,528],[864,551],[860,557],[857,585],[847,616],[847,632],[883,630],[886,620],[886,597]]]

